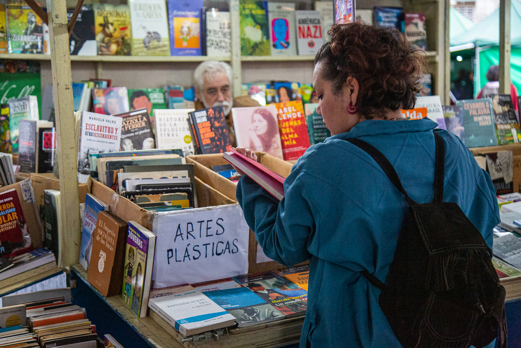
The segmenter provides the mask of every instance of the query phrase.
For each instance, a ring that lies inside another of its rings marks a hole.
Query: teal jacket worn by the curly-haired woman
[[[385,281],[406,218],[407,203],[378,164],[345,138],[360,138],[394,166],[408,195],[433,199],[436,123],[364,121],[309,148],[284,182],[278,202],[242,177],[237,199],[266,256],[292,266],[309,262],[301,348],[401,347],[379,305],[366,269]],[[445,145],[443,201],[456,202],[492,247],[499,209],[490,176],[460,139]],[[492,345],[493,346],[493,345]]]

